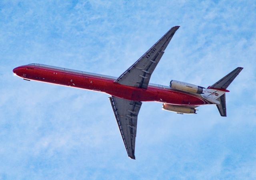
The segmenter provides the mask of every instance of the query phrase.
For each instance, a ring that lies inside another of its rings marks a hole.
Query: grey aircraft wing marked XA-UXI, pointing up
[[[156,44],[116,79],[116,83],[133,87],[148,88],[150,77],[160,61],[172,36],[180,26],[172,27]]]

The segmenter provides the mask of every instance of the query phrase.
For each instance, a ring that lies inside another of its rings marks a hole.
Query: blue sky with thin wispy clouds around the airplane
[[[207,87],[244,67],[197,115],[143,103],[136,160],[108,95],[23,81],[42,63],[118,77],[181,26],[150,82]],[[255,1],[1,1],[0,179],[253,179],[256,177]]]

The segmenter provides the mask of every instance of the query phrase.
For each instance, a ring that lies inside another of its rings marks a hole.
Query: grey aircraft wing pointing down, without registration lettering
[[[130,101],[114,96],[109,97],[109,99],[127,154],[130,158],[135,159],[137,118],[142,102]]]

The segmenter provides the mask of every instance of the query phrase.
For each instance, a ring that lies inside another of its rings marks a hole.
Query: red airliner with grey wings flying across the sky
[[[170,81],[170,86],[149,83],[156,65],[179,27],[172,27],[119,77],[38,63],[16,67],[13,72],[27,81],[82,88],[110,95],[110,104],[126,152],[128,157],[135,159],[137,119],[142,102],[160,102],[162,109],[180,114],[196,114],[198,106],[216,105],[220,115],[226,117],[227,87],[243,69],[237,67],[207,88],[176,80]]]

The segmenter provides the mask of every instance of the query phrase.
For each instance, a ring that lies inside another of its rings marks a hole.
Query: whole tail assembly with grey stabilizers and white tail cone
[[[236,76],[242,71],[243,67],[237,67],[228,75],[222,77],[219,81],[204,89],[202,96],[213,104],[216,104],[218,111],[221,116],[226,117],[226,96],[225,93],[229,92],[227,90],[228,86],[236,78]]]

